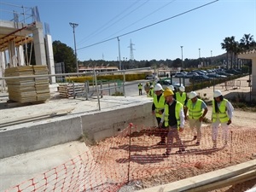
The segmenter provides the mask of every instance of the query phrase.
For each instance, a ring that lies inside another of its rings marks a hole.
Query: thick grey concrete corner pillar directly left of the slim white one
[[[37,65],[46,65],[46,55],[45,55],[45,47],[44,47],[44,30],[41,22],[36,22],[36,25],[32,27],[33,33],[33,44],[36,55],[36,63]],[[33,64],[33,63],[32,63]]]

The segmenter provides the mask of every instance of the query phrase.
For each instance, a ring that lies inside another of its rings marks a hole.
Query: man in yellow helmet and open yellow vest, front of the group
[[[182,153],[185,151],[185,147],[183,146],[182,140],[178,134],[178,132],[182,132],[184,129],[184,113],[183,105],[173,98],[174,93],[172,90],[166,89],[164,91],[164,96],[166,99],[166,104],[164,115],[160,121],[160,126],[165,125],[166,129],[168,129],[166,153],[163,154],[168,156],[171,154],[174,138],[179,146],[177,153]]]

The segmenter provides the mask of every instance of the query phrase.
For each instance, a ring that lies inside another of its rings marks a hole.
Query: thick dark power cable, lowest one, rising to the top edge
[[[199,7],[194,8],[194,9],[189,9],[188,11],[184,11],[184,12],[181,13],[181,14],[174,15],[174,16],[172,16],[172,17],[169,17],[169,18],[165,19],[165,20],[160,20],[160,21],[155,22],[155,23],[153,23],[153,24],[150,24],[150,25],[148,25],[148,26],[143,26],[143,27],[138,28],[138,29],[136,29],[136,30],[133,30],[133,31],[131,31],[131,32],[126,32],[126,33],[124,33],[124,34],[122,34],[122,35],[119,35],[119,36],[117,36],[117,37],[108,38],[108,39],[103,40],[103,41],[101,41],[101,42],[98,42],[98,43],[96,43],[96,44],[90,44],[90,45],[88,45],[88,46],[79,48],[78,50],[80,50],[80,49],[86,49],[86,48],[95,46],[95,45],[97,45],[97,44],[103,44],[103,43],[108,42],[108,41],[111,41],[111,40],[113,40],[113,39],[115,39],[115,38],[124,37],[125,35],[129,35],[129,34],[131,34],[131,33],[133,33],[133,32],[141,31],[141,30],[146,29],[146,28],[148,28],[148,27],[150,27],[150,26],[155,26],[155,25],[157,25],[157,24],[160,24],[160,23],[162,23],[162,22],[165,22],[166,20],[171,20],[171,19],[176,18],[176,17],[178,17],[178,16],[188,14],[189,12],[195,11],[196,9],[201,9],[201,8],[203,8],[203,7],[206,7],[206,6],[209,5],[209,4],[216,3],[216,2],[218,2],[218,0],[212,1],[212,2],[210,2],[210,3],[203,4],[203,5],[199,6]]]

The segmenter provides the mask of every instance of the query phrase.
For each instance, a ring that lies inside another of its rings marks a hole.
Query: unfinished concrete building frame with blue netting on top
[[[12,9],[15,9],[15,6]],[[40,22],[37,8],[24,8],[23,12],[14,11],[14,17],[9,20],[1,20],[0,22],[0,78],[4,76],[6,67],[17,67],[25,65],[48,65],[49,73],[55,74],[52,41],[49,34],[45,37],[46,46],[44,44],[44,28]],[[4,11],[4,10],[3,10]],[[9,10],[6,10],[10,12]],[[31,14],[27,14],[31,11]],[[24,15],[32,20],[20,20],[20,15]],[[27,49],[27,44],[32,43],[35,52],[36,63],[30,63],[31,49]],[[23,46],[26,45],[26,49]],[[47,52],[47,55],[46,55]],[[48,57],[48,58],[47,58]],[[26,59],[25,59],[26,58]],[[55,83],[55,77],[50,79],[51,83]],[[4,81],[1,80],[0,87],[4,87]]]

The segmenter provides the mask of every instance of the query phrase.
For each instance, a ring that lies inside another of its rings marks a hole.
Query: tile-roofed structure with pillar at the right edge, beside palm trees
[[[237,55],[238,58],[240,59],[247,59],[247,60],[252,60],[252,95],[256,96],[256,49],[252,50],[247,50],[246,52],[243,52],[239,55]]]

